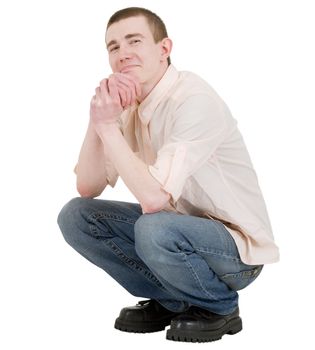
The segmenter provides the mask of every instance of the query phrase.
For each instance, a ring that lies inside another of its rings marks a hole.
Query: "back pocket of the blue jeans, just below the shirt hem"
[[[252,282],[259,276],[263,265],[255,266],[250,270],[244,270],[237,273],[226,273],[220,276],[220,279],[227,284],[233,290],[241,290]]]

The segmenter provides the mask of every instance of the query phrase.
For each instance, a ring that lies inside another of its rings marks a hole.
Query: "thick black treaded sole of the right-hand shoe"
[[[166,339],[174,341],[204,343],[220,340],[225,334],[236,334],[242,330],[242,320],[237,317],[229,321],[224,327],[213,331],[181,331],[169,329]]]

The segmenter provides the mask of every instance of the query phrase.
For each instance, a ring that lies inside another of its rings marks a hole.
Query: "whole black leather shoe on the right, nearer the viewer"
[[[222,316],[192,306],[173,318],[166,338],[185,342],[209,342],[221,339],[224,334],[235,334],[241,330],[242,320],[238,308],[230,315]]]

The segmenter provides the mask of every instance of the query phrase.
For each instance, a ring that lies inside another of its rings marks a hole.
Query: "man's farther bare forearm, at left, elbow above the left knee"
[[[106,187],[104,147],[92,123],[89,123],[75,168],[77,189],[84,197],[96,197]]]

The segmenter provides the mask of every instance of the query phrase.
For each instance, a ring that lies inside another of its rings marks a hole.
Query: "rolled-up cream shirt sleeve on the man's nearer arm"
[[[174,113],[174,122],[151,175],[176,202],[188,177],[211,158],[227,132],[225,108],[208,95],[185,100]]]

